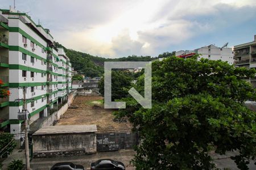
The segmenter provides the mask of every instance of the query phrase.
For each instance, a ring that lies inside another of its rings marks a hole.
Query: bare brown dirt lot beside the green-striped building
[[[115,122],[113,110],[104,109],[101,96],[76,96],[71,107],[61,116],[57,125],[97,125],[98,131],[131,129],[129,122]],[[73,107],[73,108],[72,108]],[[76,108],[77,107],[77,108]]]

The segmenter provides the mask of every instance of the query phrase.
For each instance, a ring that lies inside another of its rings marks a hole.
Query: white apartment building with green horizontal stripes
[[[5,82],[1,88],[11,93],[0,100],[0,131],[22,139],[23,121],[18,120],[18,112],[23,102],[16,99],[23,99],[23,87],[30,99],[30,122],[46,117],[71,92],[71,63],[49,29],[25,13],[0,10],[0,79]]]

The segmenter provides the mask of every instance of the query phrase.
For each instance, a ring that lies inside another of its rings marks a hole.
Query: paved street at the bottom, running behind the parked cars
[[[21,151],[21,152],[20,152]],[[33,170],[36,169],[50,169],[53,164],[58,162],[73,162],[76,164],[84,165],[86,169],[90,168],[90,163],[98,160],[98,159],[114,159],[123,162],[126,165],[127,170],[134,170],[134,167],[130,167],[130,160],[133,158],[135,152],[133,150],[120,150],[120,151],[112,151],[112,152],[98,152],[97,154],[93,155],[84,155],[84,156],[68,156],[68,157],[59,157],[59,158],[40,158],[40,159],[33,159],[31,162],[31,168]],[[216,160],[214,163],[217,164],[218,168],[224,169],[229,168],[232,170],[238,170],[236,164],[233,160],[230,159],[230,156],[233,156],[235,152],[227,152],[226,155],[218,155],[212,152],[210,155]],[[13,159],[20,159],[23,158],[23,163],[25,163],[25,156],[24,150],[14,150],[13,154],[9,156],[3,162],[3,169],[7,169],[7,164],[11,162]],[[256,169],[256,166],[253,162],[250,163],[249,168],[251,170]]]

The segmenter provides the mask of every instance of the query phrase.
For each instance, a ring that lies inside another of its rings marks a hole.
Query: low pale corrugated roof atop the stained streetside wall
[[[96,132],[96,125],[60,125],[60,126],[44,126],[36,131],[33,135],[44,134],[76,134]]]

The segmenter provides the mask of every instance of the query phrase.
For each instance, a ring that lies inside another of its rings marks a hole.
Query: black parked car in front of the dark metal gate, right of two
[[[112,159],[100,159],[90,164],[91,170],[125,170],[125,165]]]

